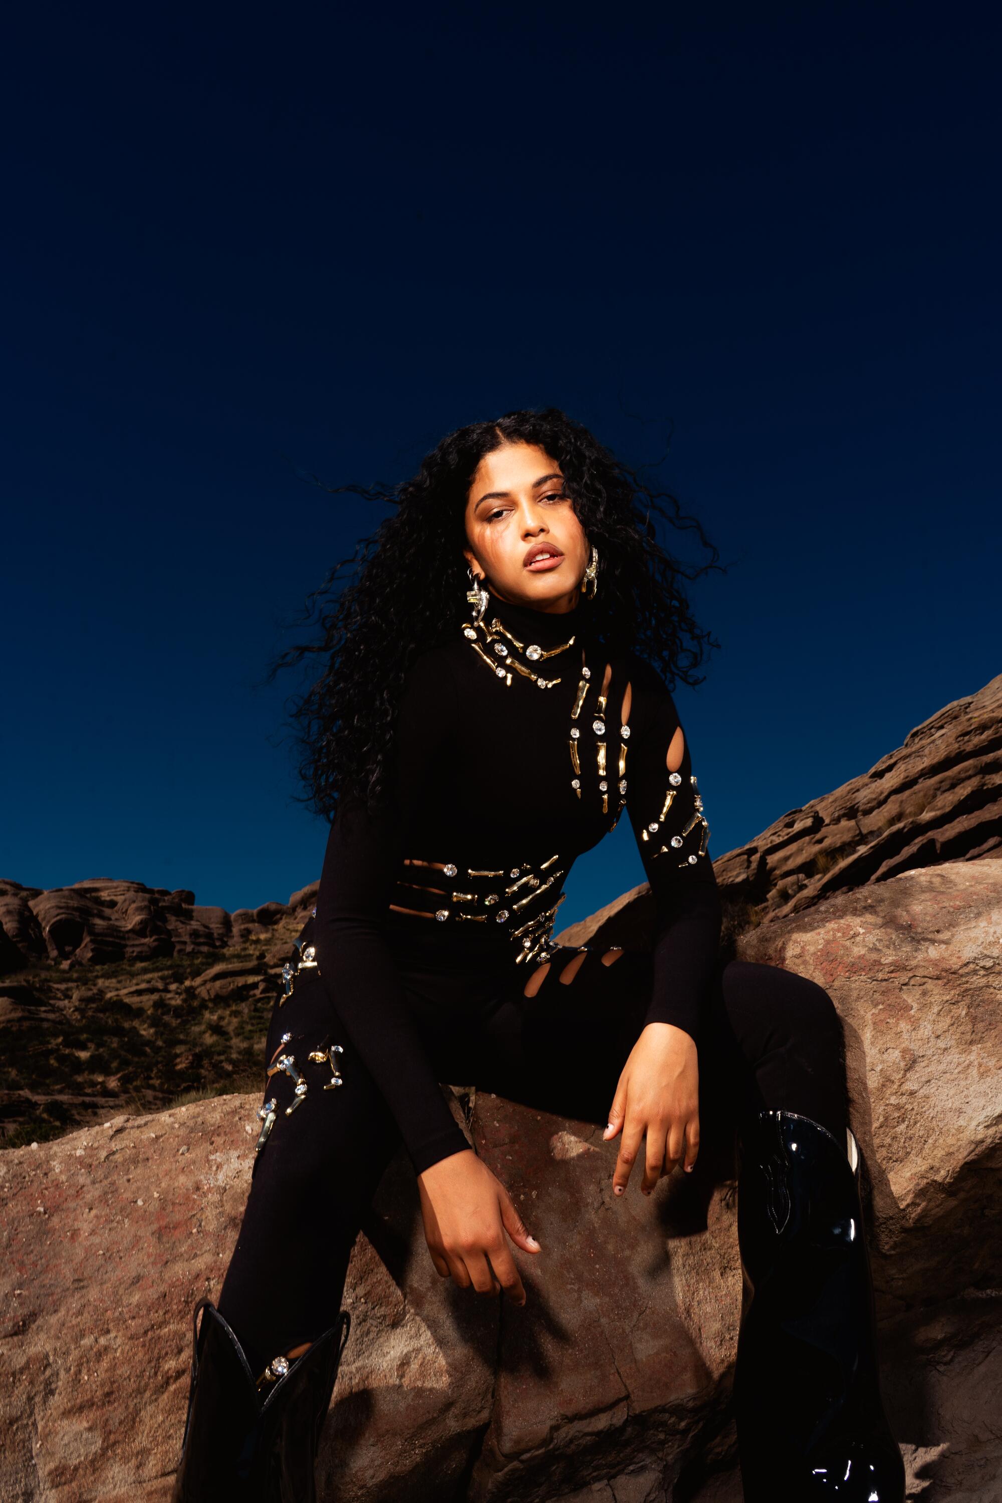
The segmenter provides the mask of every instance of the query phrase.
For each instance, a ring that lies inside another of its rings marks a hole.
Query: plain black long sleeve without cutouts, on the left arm
[[[404,682],[397,726],[397,765],[419,788],[422,768],[440,750],[451,684],[419,658]],[[436,712],[437,711],[437,712]],[[445,1102],[421,1043],[385,936],[385,915],[404,857],[401,779],[376,812],[338,809],[317,894],[315,947],[320,978],[386,1100],[418,1174],[469,1144]],[[349,1076],[346,1060],[346,1081]]]

